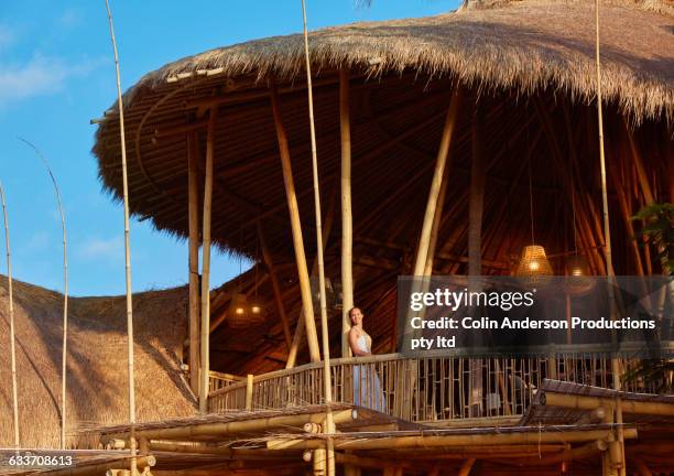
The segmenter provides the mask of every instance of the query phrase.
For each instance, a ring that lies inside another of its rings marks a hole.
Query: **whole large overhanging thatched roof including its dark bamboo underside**
[[[601,1],[602,90],[609,163],[613,261],[635,273],[617,192],[629,193],[628,213],[642,201],[632,154],[659,198],[670,190],[674,160],[674,14],[671,3]],[[322,203],[333,213],[326,272],[339,275],[339,77],[350,67],[352,215],[356,302],[368,314],[376,350],[391,349],[395,277],[410,272],[444,118],[455,79],[463,87],[450,151],[436,271],[466,272],[472,118],[486,116],[486,196],[482,272],[508,272],[531,242],[526,158],[532,158],[536,242],[558,257],[581,252],[602,273],[595,98],[594,2],[496,2],[425,19],[358,23],[311,34]],[[131,212],[170,234],[187,234],[187,131],[197,137],[203,183],[208,109],[215,129],[213,239],[221,248],[260,259],[258,224],[276,264],[291,326],[300,312],[287,204],[267,79],[279,89],[307,259],[316,255],[306,83],[300,35],[217,48],[148,74],[126,95],[124,119]],[[121,193],[119,121],[113,106],[97,132],[94,153],[104,186]],[[632,123],[630,133],[624,122]],[[631,142],[628,141],[631,140]],[[633,145],[633,147],[632,147]],[[577,236],[570,188],[577,199]],[[200,205],[199,205],[200,209]],[[327,217],[326,217],[327,218]],[[583,220],[583,223],[580,223]],[[328,220],[325,219],[325,223]],[[653,266],[656,269],[657,264]],[[220,326],[213,334],[217,370],[244,374],[282,365],[285,343],[267,270],[259,293],[268,328]],[[230,292],[253,295],[254,275]],[[222,309],[227,309],[225,303]],[[337,344],[339,318],[330,335]],[[214,315],[220,318],[221,315]],[[292,332],[292,329],[291,329]],[[337,346],[336,346],[337,347]],[[250,351],[258,357],[251,361]],[[335,349],[334,349],[335,351]]]

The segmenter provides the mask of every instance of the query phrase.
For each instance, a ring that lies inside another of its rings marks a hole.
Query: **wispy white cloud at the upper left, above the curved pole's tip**
[[[25,64],[0,62],[0,104],[58,93],[64,89],[68,78],[86,76],[102,63],[100,58],[68,64],[61,58],[40,54]]]

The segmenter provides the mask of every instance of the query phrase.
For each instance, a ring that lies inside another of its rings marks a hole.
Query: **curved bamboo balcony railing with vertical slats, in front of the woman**
[[[481,372],[475,371],[477,361]],[[622,370],[637,363],[623,359]],[[388,354],[334,359],[330,369],[335,402],[368,407],[413,422],[519,416],[545,378],[612,386],[610,357],[583,353],[479,360],[447,356],[412,359]],[[481,382],[472,381],[476,375],[481,375]],[[322,378],[322,363],[256,376],[252,409],[323,403]],[[476,387],[482,391],[471,392]],[[624,382],[623,390],[655,392],[655,383]],[[246,381],[229,382],[210,393],[208,411],[243,410],[246,393]],[[477,400],[475,394],[479,396]]]

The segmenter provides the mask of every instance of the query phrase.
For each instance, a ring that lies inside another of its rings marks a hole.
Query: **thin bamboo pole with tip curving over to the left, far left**
[[[31,149],[35,151],[44,166],[46,167],[50,177],[52,180],[52,185],[54,185],[54,192],[56,194],[56,205],[58,206],[58,213],[61,215],[61,229],[63,231],[63,346],[62,346],[62,355],[61,355],[61,448],[65,450],[66,445],[66,422],[67,422],[67,412],[66,412],[66,388],[67,388],[67,349],[68,349],[68,239],[65,224],[65,212],[63,210],[63,202],[61,199],[61,191],[58,190],[58,185],[56,184],[56,177],[52,172],[52,167],[47,162],[44,154],[26,139],[19,138],[20,141],[24,142]]]

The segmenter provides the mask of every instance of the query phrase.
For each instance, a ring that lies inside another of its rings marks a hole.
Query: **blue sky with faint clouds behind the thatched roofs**
[[[422,17],[457,0],[308,0],[309,29],[365,20]],[[165,63],[216,46],[302,28],[300,0],[111,0],[122,88]],[[101,192],[90,153],[98,118],[116,98],[105,0],[0,1],[0,180],[8,196],[12,271],[17,279],[62,290],[61,220],[50,177],[17,137],[51,163],[68,228],[74,295],[124,291],[123,213]],[[307,132],[308,133],[308,132]],[[0,247],[4,255],[4,246]],[[183,284],[185,242],[148,221],[131,225],[133,290]],[[1,272],[6,273],[2,259]],[[239,272],[216,255],[211,282]]]

